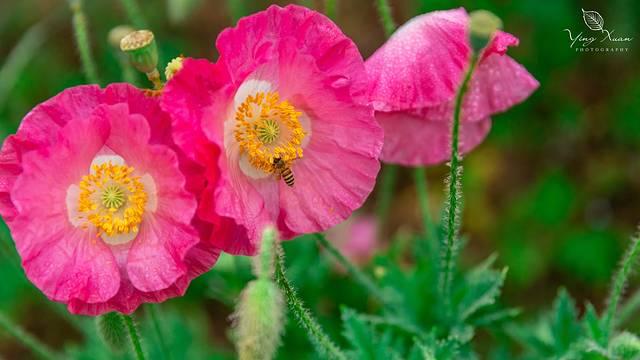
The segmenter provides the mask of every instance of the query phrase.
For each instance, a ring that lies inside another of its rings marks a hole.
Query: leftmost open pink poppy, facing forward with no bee
[[[192,223],[204,179],[178,161],[169,130],[132,86],[78,86],[4,142],[0,214],[27,277],[70,312],[131,313],[184,294],[215,263],[200,241],[211,225]]]

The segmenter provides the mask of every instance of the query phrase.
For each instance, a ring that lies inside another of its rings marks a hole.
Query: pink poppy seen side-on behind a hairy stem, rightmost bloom
[[[462,108],[463,153],[485,138],[491,115],[539,85],[505,55],[517,44],[499,31],[481,55]],[[454,98],[470,58],[469,16],[461,8],[413,18],[366,61],[368,98],[385,131],[383,161],[420,166],[449,159]]]

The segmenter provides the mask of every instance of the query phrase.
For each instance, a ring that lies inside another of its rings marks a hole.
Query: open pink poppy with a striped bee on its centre
[[[383,140],[372,107],[360,104],[355,44],[325,16],[290,5],[240,20],[216,46],[215,64],[184,60],[161,104],[176,144],[220,168],[198,212],[238,224],[218,245],[254,254],[266,224],[291,238],[349,217],[374,186]]]

